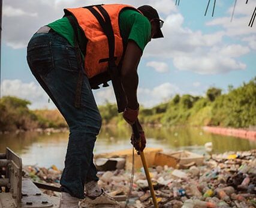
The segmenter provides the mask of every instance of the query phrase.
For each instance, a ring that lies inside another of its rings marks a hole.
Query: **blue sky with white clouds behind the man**
[[[26,62],[26,45],[43,25],[63,16],[64,8],[91,4],[151,5],[164,20],[164,38],[150,41],[138,66],[138,101],[144,107],[170,100],[175,94],[204,96],[210,87],[234,88],[256,76],[256,20],[249,21],[256,0],[213,0],[206,16],[207,0],[82,1],[3,0],[1,96],[31,101],[29,107],[55,108],[32,76]],[[94,91],[97,103],[114,103],[112,88]]]

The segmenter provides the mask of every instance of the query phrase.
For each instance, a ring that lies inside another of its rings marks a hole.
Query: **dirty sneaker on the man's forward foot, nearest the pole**
[[[109,195],[101,189],[101,194],[98,197],[89,197],[86,195],[85,199],[82,200],[79,204],[80,208],[100,208],[100,207],[111,207],[111,208],[121,208],[121,204],[118,203],[115,199],[110,197]]]

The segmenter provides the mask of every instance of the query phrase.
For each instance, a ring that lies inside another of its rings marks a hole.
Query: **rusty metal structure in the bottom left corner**
[[[53,198],[22,177],[22,158],[7,147],[0,153],[0,208],[56,208]]]

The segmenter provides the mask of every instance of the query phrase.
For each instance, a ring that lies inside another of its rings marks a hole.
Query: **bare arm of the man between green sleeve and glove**
[[[137,67],[140,62],[142,52],[134,41],[129,40],[125,51],[124,60],[121,69],[122,86],[127,97],[129,108],[135,110],[138,108],[137,88],[138,74]]]

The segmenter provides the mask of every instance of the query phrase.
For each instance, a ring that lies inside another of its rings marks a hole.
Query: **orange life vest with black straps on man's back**
[[[124,4],[106,4],[101,6],[110,16],[113,33],[115,36],[115,63],[116,65],[119,65],[124,52],[123,41],[119,29],[119,14],[125,8],[136,9],[130,5]],[[96,6],[92,8],[99,12]],[[64,11],[66,14],[71,13],[74,17],[76,17],[78,25],[85,33],[86,38],[88,38],[85,55],[85,73],[88,78],[107,71],[109,67],[107,62],[109,59],[109,44],[107,36],[97,18],[86,7],[67,8]]]

